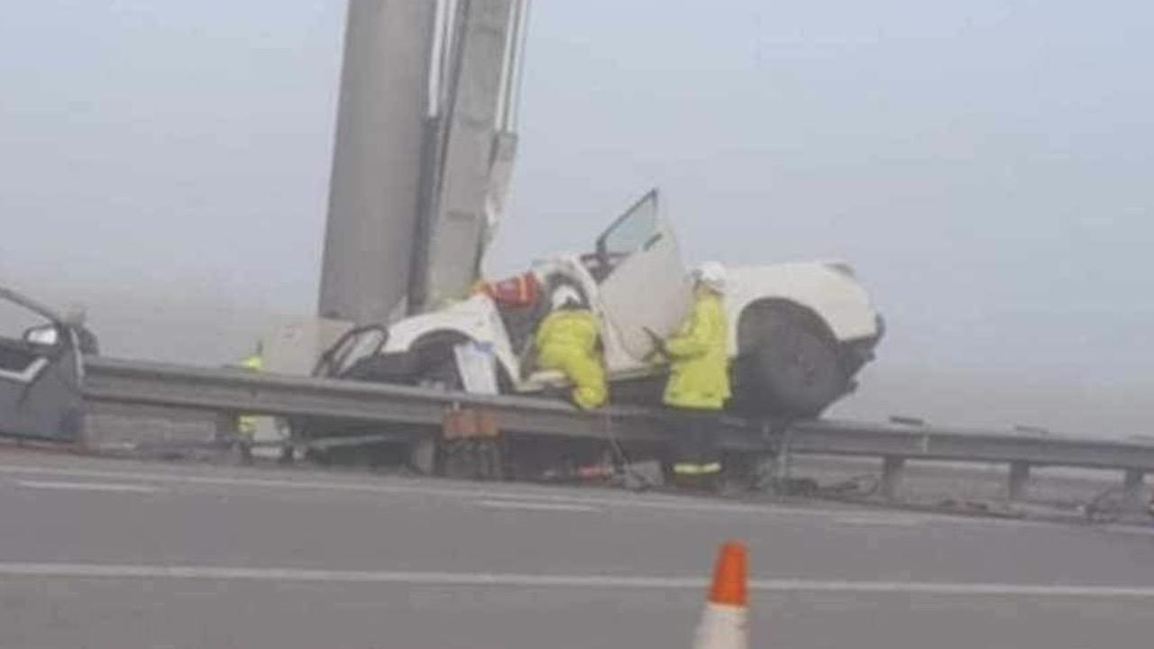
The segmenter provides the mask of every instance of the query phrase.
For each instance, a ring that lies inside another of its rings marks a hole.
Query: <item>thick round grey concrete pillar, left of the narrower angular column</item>
[[[400,314],[417,243],[436,6],[349,2],[322,316],[364,324]]]

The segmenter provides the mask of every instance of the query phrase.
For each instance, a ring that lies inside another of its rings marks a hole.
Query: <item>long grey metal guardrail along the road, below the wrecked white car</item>
[[[504,431],[623,442],[668,440],[669,415],[659,409],[613,406],[582,412],[567,404],[519,396],[482,396],[403,386],[277,374],[253,374],[149,361],[87,359],[84,397],[96,402],[180,406],[276,416],[331,417],[395,424],[440,425],[447,409],[481,406]],[[1004,462],[1011,494],[1024,488],[1032,465],[1127,471],[1134,482],[1154,472],[1154,443],[1031,437],[989,431],[810,420],[771,432],[767,423],[725,417],[722,447],[794,454],[885,458],[884,478],[896,486],[906,460]]]

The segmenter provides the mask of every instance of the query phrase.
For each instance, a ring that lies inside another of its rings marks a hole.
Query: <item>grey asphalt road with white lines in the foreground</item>
[[[0,454],[0,647],[1148,648],[1154,530]]]

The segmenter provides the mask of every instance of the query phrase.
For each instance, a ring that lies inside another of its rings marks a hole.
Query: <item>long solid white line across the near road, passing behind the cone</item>
[[[149,566],[111,564],[0,564],[8,577],[187,579],[297,582],[392,583],[406,585],[705,589],[709,580],[691,576],[534,575],[518,573],[442,573],[397,570],[319,570],[301,568],[230,568],[222,566]],[[901,581],[814,581],[755,579],[762,592],[849,592],[1010,597],[1132,597],[1154,599],[1154,587],[1016,584]]]

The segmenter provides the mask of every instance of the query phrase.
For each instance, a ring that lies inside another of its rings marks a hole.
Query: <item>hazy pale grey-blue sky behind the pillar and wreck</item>
[[[0,281],[121,355],[220,363],[312,313],[344,13],[8,3]],[[657,185],[692,260],[857,268],[890,335],[842,413],[1140,432],[1151,33],[1137,1],[535,0],[489,267]]]

